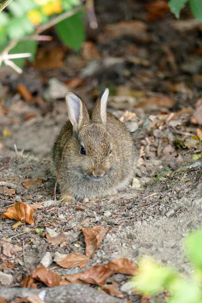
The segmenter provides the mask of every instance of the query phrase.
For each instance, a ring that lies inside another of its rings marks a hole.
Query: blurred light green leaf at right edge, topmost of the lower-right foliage
[[[192,232],[185,245],[192,263],[202,270],[202,230]]]

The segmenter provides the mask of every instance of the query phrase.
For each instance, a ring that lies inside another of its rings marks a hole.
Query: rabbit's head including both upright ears
[[[67,156],[83,178],[94,181],[105,178],[111,169],[113,146],[106,129],[108,94],[106,88],[90,113],[78,95],[67,92],[65,96],[73,126],[73,144]]]

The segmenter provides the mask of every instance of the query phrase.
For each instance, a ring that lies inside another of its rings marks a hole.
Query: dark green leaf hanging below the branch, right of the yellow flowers
[[[62,42],[68,45],[70,48],[78,51],[81,48],[82,43],[85,40],[85,32],[83,25],[83,13],[77,13],[61,22],[55,27],[58,36]]]

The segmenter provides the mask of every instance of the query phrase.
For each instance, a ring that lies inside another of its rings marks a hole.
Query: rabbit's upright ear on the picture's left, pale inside
[[[78,132],[82,125],[90,122],[88,110],[81,98],[72,92],[65,95],[69,120],[73,125],[73,130]]]

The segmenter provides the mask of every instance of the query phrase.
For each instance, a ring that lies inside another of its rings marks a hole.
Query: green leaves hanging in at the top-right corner
[[[194,17],[199,21],[202,21],[202,0],[170,0],[168,5],[176,18],[179,18],[181,9],[184,8],[187,3],[189,3]]]

